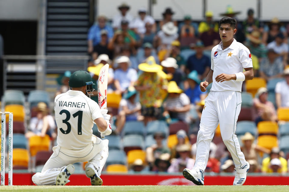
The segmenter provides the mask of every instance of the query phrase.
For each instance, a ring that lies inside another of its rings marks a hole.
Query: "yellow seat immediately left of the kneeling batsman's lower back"
[[[32,136],[29,138],[29,149],[30,155],[33,157],[39,151],[49,151],[50,148],[50,138],[48,135],[45,137]]]

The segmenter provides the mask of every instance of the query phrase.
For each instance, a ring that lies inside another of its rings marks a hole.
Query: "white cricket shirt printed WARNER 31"
[[[57,145],[80,150],[92,142],[93,121],[102,117],[98,104],[82,91],[69,90],[54,100]]]

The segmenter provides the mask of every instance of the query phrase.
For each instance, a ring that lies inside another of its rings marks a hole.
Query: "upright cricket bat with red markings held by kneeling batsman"
[[[107,108],[107,78],[108,78],[109,65],[105,64],[101,67],[98,75],[97,92],[98,92],[98,105],[101,109]],[[101,135],[102,138],[104,136]]]

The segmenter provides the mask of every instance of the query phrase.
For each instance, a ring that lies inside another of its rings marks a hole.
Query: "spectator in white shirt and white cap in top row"
[[[135,33],[141,35],[144,34],[146,31],[145,24],[150,23],[152,25],[152,32],[156,32],[156,22],[154,18],[147,15],[147,10],[144,7],[138,9],[138,17],[132,21],[132,28],[134,29]]]

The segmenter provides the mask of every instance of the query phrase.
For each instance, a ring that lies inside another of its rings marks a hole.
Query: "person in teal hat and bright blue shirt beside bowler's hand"
[[[198,78],[198,73],[193,70],[188,74],[189,88],[185,90],[185,94],[190,98],[191,104],[196,104],[207,97],[207,91],[202,92],[199,88],[201,80]]]

